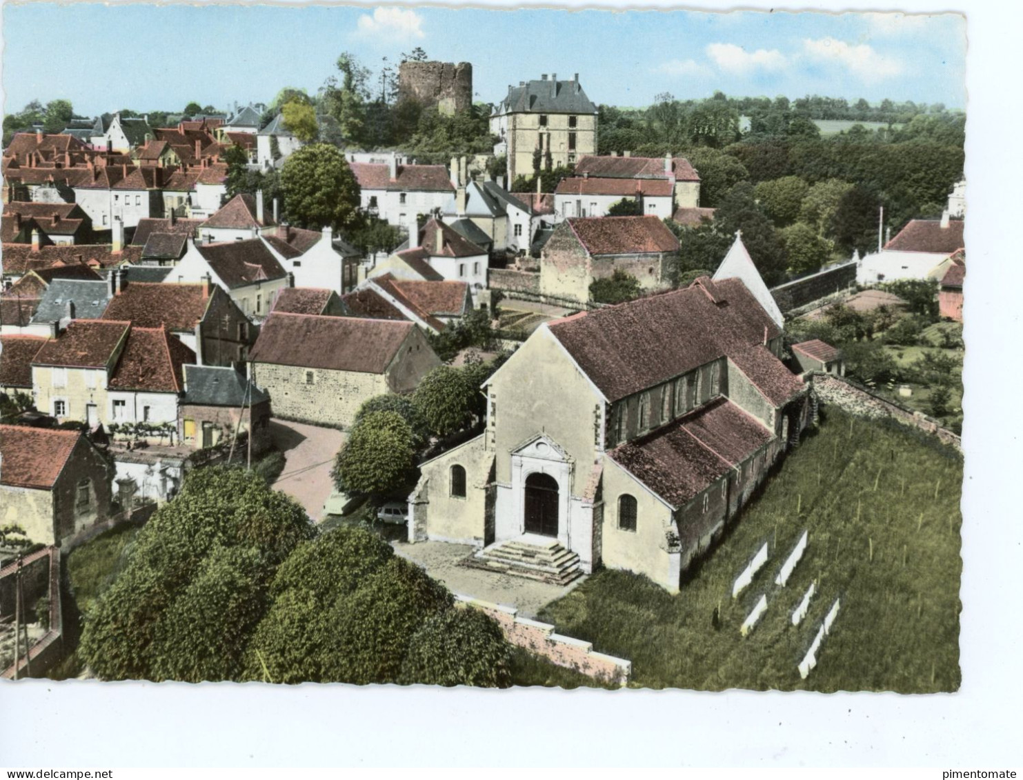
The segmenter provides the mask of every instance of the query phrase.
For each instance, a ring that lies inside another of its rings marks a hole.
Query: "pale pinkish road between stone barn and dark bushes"
[[[270,421],[270,434],[284,453],[284,470],[272,487],[293,496],[310,517],[319,520],[332,488],[330,465],[346,434],[335,428],[276,419]]]

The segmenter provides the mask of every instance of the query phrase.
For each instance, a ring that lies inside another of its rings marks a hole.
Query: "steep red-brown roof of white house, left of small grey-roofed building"
[[[195,353],[166,328],[132,327],[107,386],[145,393],[180,393],[182,366]]]

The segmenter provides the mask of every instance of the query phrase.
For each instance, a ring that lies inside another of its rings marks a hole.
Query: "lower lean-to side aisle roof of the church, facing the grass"
[[[680,508],[771,441],[762,424],[725,398],[704,404],[641,439],[611,450],[611,459],[674,508]],[[683,545],[695,540],[685,538]]]

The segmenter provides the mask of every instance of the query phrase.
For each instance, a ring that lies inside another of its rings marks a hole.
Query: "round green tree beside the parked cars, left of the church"
[[[369,412],[352,427],[330,475],[344,493],[387,496],[410,480],[414,455],[412,428],[401,414]]]

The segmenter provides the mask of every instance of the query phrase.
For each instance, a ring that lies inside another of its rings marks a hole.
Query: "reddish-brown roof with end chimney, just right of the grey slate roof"
[[[176,332],[191,332],[206,317],[210,301],[217,290],[210,285],[203,294],[203,284],[131,282],[114,295],[100,315],[104,320],[131,322],[134,327],[159,328],[166,325]]]

